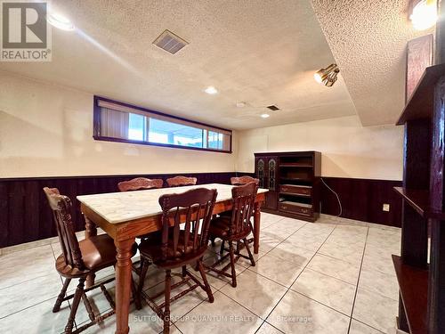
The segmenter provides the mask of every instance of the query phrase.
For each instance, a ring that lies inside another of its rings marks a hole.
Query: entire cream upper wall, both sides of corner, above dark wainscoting
[[[253,172],[254,152],[306,150],[322,152],[325,176],[402,177],[403,128],[363,127],[355,116],[234,132],[233,154],[92,134],[93,94],[0,72],[0,177]]]

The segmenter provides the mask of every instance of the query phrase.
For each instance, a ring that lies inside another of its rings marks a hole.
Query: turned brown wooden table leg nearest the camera
[[[129,332],[128,314],[132,283],[132,246],[134,239],[117,241],[116,265],[116,334]]]

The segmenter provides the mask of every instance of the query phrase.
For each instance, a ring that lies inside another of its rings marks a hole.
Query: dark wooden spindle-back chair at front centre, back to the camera
[[[180,194],[161,196],[159,204],[162,208],[162,237],[158,242],[142,240],[139,245],[142,271],[138,293],[142,294],[149,265],[156,265],[166,271],[165,290],[151,297],[143,294],[153,311],[164,321],[164,333],[168,333],[170,329],[170,303],[172,301],[201,287],[206,291],[209,302],[214,302],[212,289],[206,279],[201,261],[207,250],[207,233],[216,195],[216,190],[198,188]],[[183,225],[183,229],[180,225]],[[196,265],[202,282],[189,272],[187,265]],[[174,268],[182,268],[182,281],[172,285],[171,271]],[[190,280],[195,284],[174,297],[170,296],[172,289]],[[165,301],[157,305],[155,299],[162,294],[165,295]]]

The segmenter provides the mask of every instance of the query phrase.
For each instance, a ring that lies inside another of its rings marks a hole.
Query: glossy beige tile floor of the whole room
[[[214,303],[196,289],[172,305],[172,333],[388,333],[394,329],[398,288],[391,254],[400,253],[401,230],[323,215],[316,224],[262,214],[255,266],[240,259],[238,288],[208,275]],[[55,242],[55,240],[52,240]],[[60,333],[69,304],[52,313],[61,278],[54,269],[57,243],[0,256],[0,333]],[[218,255],[209,247],[205,262]],[[102,271],[97,279],[112,275]],[[114,282],[109,291],[114,293]],[[163,273],[150,268],[146,291],[163,289]],[[74,289],[73,284],[70,289]],[[94,311],[109,305],[92,291]],[[114,333],[114,317],[86,330]],[[88,320],[79,306],[76,323]],[[130,314],[131,332],[159,333],[148,306]]]

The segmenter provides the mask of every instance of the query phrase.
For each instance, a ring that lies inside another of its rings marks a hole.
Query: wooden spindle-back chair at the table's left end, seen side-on
[[[92,287],[85,289],[86,277],[92,273],[96,273],[101,269],[116,265],[116,247],[114,240],[107,234],[91,236],[88,239],[78,241],[74,224],[71,219],[71,200],[69,197],[60,194],[57,188],[44,188],[44,193],[48,199],[50,208],[53,211],[53,220],[56,225],[57,234],[61,243],[62,254],[56,259],[56,270],[65,278],[63,282],[61,293],[56,299],[53,306],[53,313],[57,313],[61,309],[61,303],[73,298],[71,303],[71,311],[69,319],[65,326],[64,333],[78,333],[93,326],[97,322],[102,322],[104,319],[115,314],[115,303],[109,295],[105,284],[114,280],[114,277],[96,283]],[[134,244],[133,256],[136,254],[137,245]],[[66,296],[69,283],[73,279],[78,279],[77,289],[74,294]],[[136,292],[134,282],[132,282],[132,290],[136,308],[141,309],[141,303]],[[93,306],[91,305],[86,292],[92,289],[101,288],[102,293],[107,298],[111,311],[106,314],[96,315],[93,313]],[[90,318],[90,322],[78,327],[73,331],[74,321],[76,318],[77,308],[80,300],[83,300],[86,311]]]

